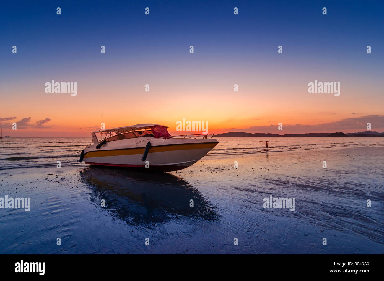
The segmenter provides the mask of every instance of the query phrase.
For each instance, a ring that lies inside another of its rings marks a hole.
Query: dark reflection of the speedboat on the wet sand
[[[122,168],[89,167],[80,172],[81,181],[93,190],[91,201],[129,224],[150,224],[179,216],[218,220],[216,208],[190,183],[177,176]],[[101,207],[105,200],[105,207]],[[194,207],[190,207],[193,200]]]

